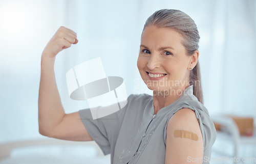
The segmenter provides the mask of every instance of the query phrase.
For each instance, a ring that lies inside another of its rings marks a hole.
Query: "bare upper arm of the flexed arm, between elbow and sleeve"
[[[93,141],[80,119],[79,112],[66,114],[48,136],[61,140]]]

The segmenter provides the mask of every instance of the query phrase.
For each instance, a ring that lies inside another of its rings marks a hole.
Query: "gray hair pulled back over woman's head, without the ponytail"
[[[187,54],[191,55],[199,48],[200,36],[197,25],[193,19],[180,10],[158,10],[147,18],[144,29],[148,25],[156,25],[158,28],[176,29],[183,36],[182,44],[186,48]]]

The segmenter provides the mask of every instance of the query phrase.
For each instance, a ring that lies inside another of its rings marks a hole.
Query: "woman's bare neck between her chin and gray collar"
[[[157,114],[161,108],[175,102],[187,87],[189,87],[189,85],[162,92],[153,91],[154,115]]]

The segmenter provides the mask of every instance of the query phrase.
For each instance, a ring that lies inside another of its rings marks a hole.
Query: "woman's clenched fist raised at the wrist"
[[[71,44],[76,44],[77,42],[76,33],[61,26],[48,42],[42,54],[54,58],[59,51],[69,48]]]

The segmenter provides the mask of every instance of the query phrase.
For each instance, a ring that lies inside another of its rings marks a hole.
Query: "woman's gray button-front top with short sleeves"
[[[96,120],[92,119],[90,109],[80,110],[79,114],[103,153],[111,153],[111,163],[164,164],[168,120],[182,108],[195,111],[203,136],[203,159],[209,159],[216,130],[207,109],[193,95],[193,86],[156,115],[153,97],[146,94],[130,95],[120,111]],[[203,163],[209,162],[203,160]]]

